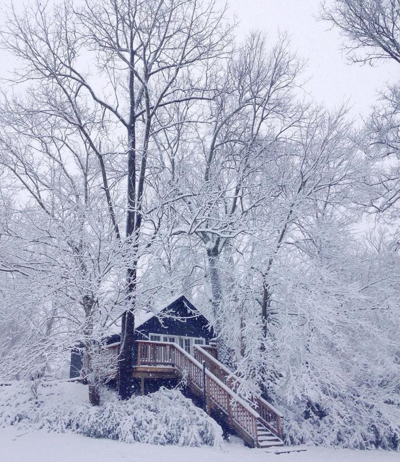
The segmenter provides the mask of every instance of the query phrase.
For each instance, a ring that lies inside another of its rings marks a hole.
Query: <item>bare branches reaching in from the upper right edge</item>
[[[382,60],[400,64],[400,3],[397,0],[338,0],[323,3],[323,19],[341,30],[344,49],[356,63],[375,65]],[[400,151],[398,85],[389,85],[366,123],[362,148],[375,161],[375,173],[366,178],[363,205],[374,212],[398,217]]]

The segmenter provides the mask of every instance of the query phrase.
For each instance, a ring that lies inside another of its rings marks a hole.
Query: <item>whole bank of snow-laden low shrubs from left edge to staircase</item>
[[[94,438],[155,445],[219,447],[222,429],[177,390],[160,389],[128,401],[116,398],[93,407],[81,384],[41,385],[35,399],[28,384],[2,387],[0,427],[73,431]],[[107,395],[110,398],[110,394]]]

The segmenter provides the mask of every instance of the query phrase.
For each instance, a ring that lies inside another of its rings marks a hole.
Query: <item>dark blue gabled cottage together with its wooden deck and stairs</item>
[[[210,322],[181,295],[162,309],[135,316],[132,376],[142,394],[185,378],[184,393],[226,429],[253,448],[288,452],[282,440],[282,414],[261,396],[251,404],[237,395],[242,379],[217,360]],[[102,349],[109,383],[116,382],[120,332],[107,338]],[[70,377],[82,376],[85,358],[71,353]]]

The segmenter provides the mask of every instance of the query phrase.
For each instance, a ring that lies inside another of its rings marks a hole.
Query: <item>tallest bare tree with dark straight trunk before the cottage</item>
[[[112,188],[127,176],[122,398],[131,394],[141,230],[146,247],[159,228],[156,214],[149,217],[145,210],[145,189],[156,175],[152,140],[159,127],[182,123],[171,119],[171,105],[213,98],[208,69],[229,54],[231,29],[223,15],[214,2],[204,5],[197,0],[108,0],[79,7],[65,2],[53,12],[37,3],[22,15],[12,11],[3,34],[4,46],[24,62],[19,80],[39,82],[47,97],[40,109],[76,127],[97,157],[119,241],[121,216]],[[126,168],[121,162],[126,162]],[[121,177],[113,178],[115,170]]]

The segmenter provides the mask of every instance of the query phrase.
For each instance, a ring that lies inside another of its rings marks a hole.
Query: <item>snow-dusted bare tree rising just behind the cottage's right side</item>
[[[173,232],[195,236],[205,248],[220,358],[225,356],[230,363],[223,333],[228,304],[224,272],[229,271],[222,258],[229,242],[249,231],[248,216],[268,201],[257,173],[268,156],[266,146],[277,142],[301,117],[292,97],[302,63],[288,46],[283,35],[269,49],[262,33],[252,33],[217,73],[215,80],[222,89],[204,105],[205,116],[182,135],[190,140],[190,156],[187,151],[180,153],[186,166],[180,173],[183,208]],[[163,149],[170,151],[168,146]],[[170,155],[169,160],[172,165],[175,159]],[[175,177],[179,182],[179,172]],[[184,191],[190,191],[190,196]]]

